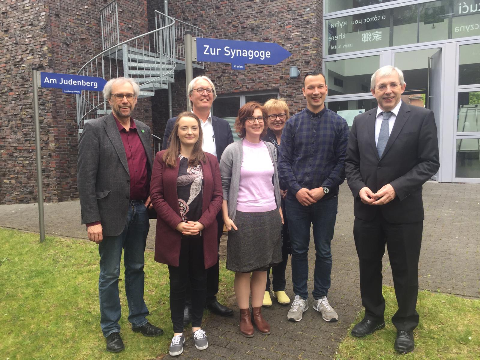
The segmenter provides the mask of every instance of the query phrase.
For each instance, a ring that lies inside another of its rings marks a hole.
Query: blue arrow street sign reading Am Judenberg
[[[96,76],[40,72],[40,87],[55,87],[64,93],[81,94],[82,90],[102,91],[107,80]]]

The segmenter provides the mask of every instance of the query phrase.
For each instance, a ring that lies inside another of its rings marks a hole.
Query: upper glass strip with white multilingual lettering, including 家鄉
[[[480,0],[440,0],[329,19],[326,55],[479,36],[479,15]]]

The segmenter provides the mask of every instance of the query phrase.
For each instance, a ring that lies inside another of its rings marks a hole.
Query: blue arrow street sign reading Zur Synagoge
[[[276,43],[197,37],[197,61],[227,62],[233,70],[245,64],[276,65],[291,53]]]

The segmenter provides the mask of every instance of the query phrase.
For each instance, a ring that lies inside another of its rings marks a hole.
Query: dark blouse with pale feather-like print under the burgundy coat
[[[202,199],[204,188],[204,173],[202,165],[189,166],[188,158],[179,156],[180,167],[177,177],[177,194],[179,199],[180,216],[183,221],[198,221],[202,216]],[[189,235],[185,238],[202,236]],[[184,236],[182,235],[182,238]]]

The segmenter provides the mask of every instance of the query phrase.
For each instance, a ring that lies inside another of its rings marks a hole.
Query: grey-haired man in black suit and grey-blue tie
[[[365,317],[351,334],[362,337],[385,326],[382,257],[385,242],[398,311],[394,348],[413,351],[418,261],[423,227],[422,185],[440,167],[433,112],[401,101],[403,73],[384,66],[372,75],[378,107],[355,117],[345,171],[353,193],[353,236],[360,260],[360,293]]]

